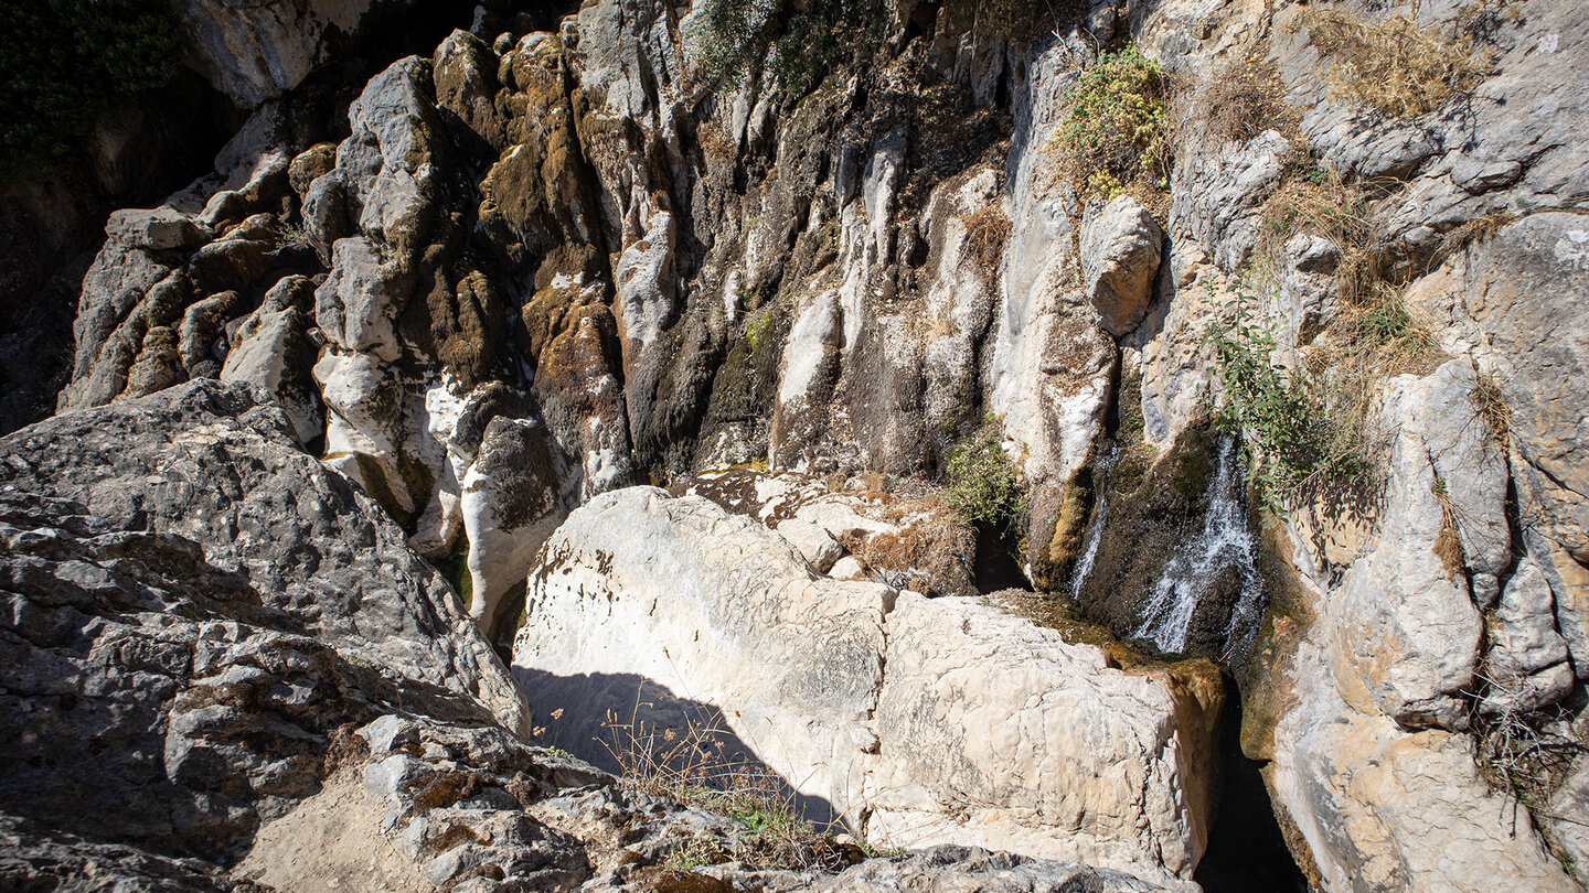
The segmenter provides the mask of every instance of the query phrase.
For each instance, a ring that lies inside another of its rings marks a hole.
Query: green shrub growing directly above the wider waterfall
[[[1249,300],[1238,294],[1203,332],[1224,386],[1214,423],[1241,437],[1260,497],[1284,512],[1308,485],[1362,478],[1367,461],[1320,388],[1270,359],[1274,334],[1247,316]]]

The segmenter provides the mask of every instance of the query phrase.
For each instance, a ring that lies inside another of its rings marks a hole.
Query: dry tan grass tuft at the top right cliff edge
[[[1405,16],[1367,21],[1340,10],[1298,19],[1330,62],[1330,97],[1398,118],[1417,118],[1471,91],[1494,57],[1471,35],[1443,37]]]

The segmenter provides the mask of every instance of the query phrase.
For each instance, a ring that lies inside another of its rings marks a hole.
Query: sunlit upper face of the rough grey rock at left
[[[346,637],[350,655],[480,698],[516,728],[520,694],[440,575],[345,478],[299,453],[286,424],[246,388],[192,381],[17,432],[0,475],[16,493],[76,501],[105,524],[137,521],[200,543],[205,561],[232,567],[270,610],[313,612],[326,642]]]

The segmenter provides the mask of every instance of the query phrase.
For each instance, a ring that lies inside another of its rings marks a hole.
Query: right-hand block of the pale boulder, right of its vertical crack
[[[1165,885],[1192,874],[1211,809],[1212,677],[1130,675],[996,607],[915,593],[888,615],[885,666],[874,839],[1079,860]]]

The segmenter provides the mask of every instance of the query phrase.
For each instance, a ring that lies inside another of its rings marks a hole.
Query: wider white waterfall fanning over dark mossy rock
[[[1211,483],[1203,529],[1165,564],[1133,637],[1146,639],[1162,651],[1182,651],[1192,617],[1209,594],[1209,586],[1225,569],[1236,567],[1241,574],[1241,596],[1231,607],[1220,656],[1228,658],[1251,645],[1249,639],[1257,634],[1263,612],[1263,578],[1255,561],[1257,543],[1247,529],[1238,472],[1236,442],[1227,437],[1219,446],[1219,467]]]

